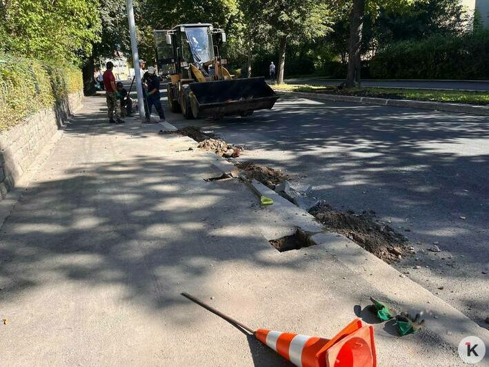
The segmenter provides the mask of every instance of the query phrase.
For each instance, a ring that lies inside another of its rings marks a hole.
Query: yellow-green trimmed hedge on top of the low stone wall
[[[0,54],[0,130],[83,88],[81,70]]]

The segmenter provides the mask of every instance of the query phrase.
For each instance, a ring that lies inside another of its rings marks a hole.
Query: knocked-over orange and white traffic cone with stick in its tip
[[[181,293],[230,323],[248,330],[255,337],[299,367],[376,367],[374,328],[363,326],[355,319],[332,339],[309,337],[294,333],[258,329],[252,330],[241,322],[224,315],[203,301]]]

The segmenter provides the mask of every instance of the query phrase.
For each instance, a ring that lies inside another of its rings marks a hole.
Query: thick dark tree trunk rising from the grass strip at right
[[[350,18],[350,52],[348,57],[348,75],[346,88],[360,86],[361,71],[361,31],[363,16],[365,15],[365,0],[353,0],[352,15]]]

